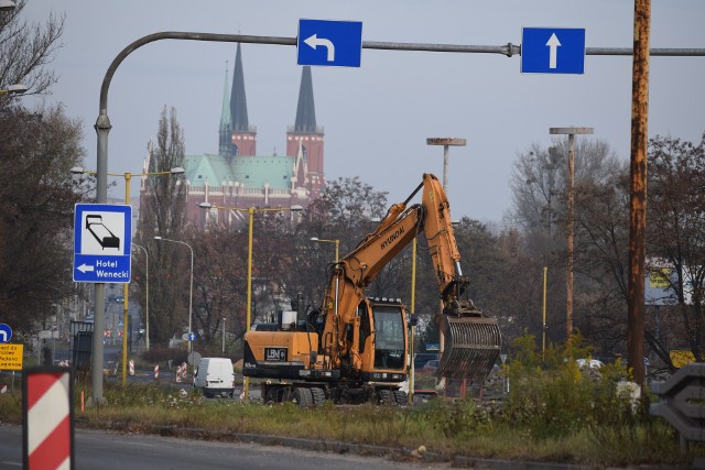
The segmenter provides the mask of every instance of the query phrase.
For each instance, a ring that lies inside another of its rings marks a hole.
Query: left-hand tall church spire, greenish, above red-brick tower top
[[[235,55],[232,70],[232,90],[230,91],[230,120],[232,125],[232,154],[257,154],[257,128],[250,125],[247,119],[247,98],[245,96],[245,73],[240,43]]]

